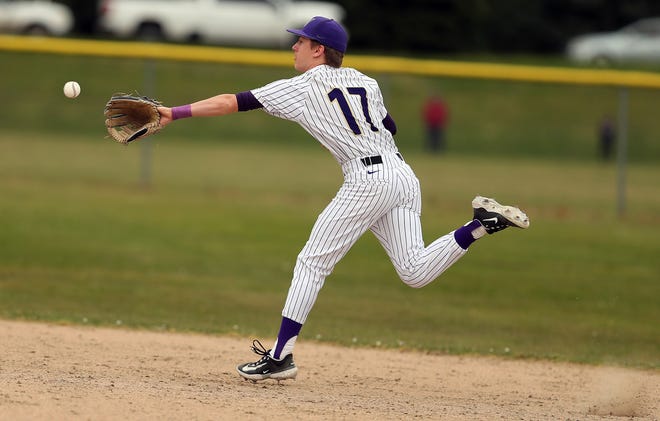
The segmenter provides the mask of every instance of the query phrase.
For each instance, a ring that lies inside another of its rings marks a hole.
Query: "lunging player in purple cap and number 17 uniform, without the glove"
[[[246,92],[158,108],[163,126],[186,117],[263,109],[300,124],[341,165],[344,183],[298,255],[273,347],[253,341],[252,349],[261,358],[237,367],[242,377],[253,381],[296,377],[293,348],[325,278],[367,230],[378,238],[401,280],[420,288],[485,234],[529,226],[520,209],[477,196],[472,220],[425,246],[419,181],[394,143],[396,124],[378,83],[342,67],[346,31],[336,21],[317,16],[288,32],[298,36],[292,49],[300,75]]]

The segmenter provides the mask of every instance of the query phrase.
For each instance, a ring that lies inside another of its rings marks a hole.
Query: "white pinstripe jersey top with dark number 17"
[[[383,126],[387,109],[378,82],[355,69],[320,65],[252,94],[267,113],[300,124],[340,164],[398,152]]]

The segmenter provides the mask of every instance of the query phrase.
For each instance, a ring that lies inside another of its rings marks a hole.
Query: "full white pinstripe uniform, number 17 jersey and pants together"
[[[453,233],[425,247],[419,180],[395,155],[374,79],[355,69],[321,65],[252,94],[267,113],[305,128],[342,164],[344,174],[298,254],[283,317],[306,322],[325,278],[367,230],[383,245],[401,280],[413,287],[433,281],[465,254]],[[380,162],[359,159],[374,155]]]

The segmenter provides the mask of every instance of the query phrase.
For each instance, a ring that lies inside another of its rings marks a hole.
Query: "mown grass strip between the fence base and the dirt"
[[[276,333],[336,164],[321,150],[168,134],[151,145],[145,188],[137,145],[3,132],[1,317]],[[464,223],[476,193],[520,204],[530,229],[480,241],[421,290],[368,234],[328,278],[306,340],[660,366],[657,167],[631,168],[619,220],[609,165],[408,160],[427,240]]]

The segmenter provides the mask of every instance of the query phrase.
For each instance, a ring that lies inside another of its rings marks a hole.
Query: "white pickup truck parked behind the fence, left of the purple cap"
[[[100,30],[120,38],[285,47],[314,16],[341,22],[335,3],[306,0],[103,0]]]

